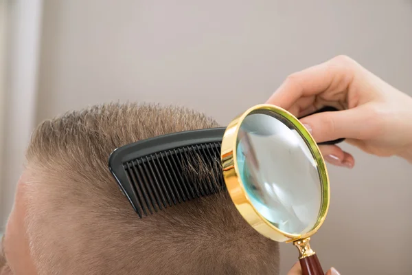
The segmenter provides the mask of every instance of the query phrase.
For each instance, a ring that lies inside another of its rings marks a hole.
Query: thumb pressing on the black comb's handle
[[[301,119],[316,142],[327,142],[339,138],[360,139],[365,132],[367,120],[361,109],[316,113]]]

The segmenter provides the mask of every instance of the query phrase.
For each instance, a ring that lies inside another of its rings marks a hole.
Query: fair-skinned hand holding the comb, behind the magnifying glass
[[[317,142],[345,137],[367,153],[398,155],[412,162],[412,98],[347,56],[291,74],[267,103],[298,118],[336,107],[342,111],[301,119]],[[339,146],[321,146],[321,151],[331,164],[354,166],[352,155]]]

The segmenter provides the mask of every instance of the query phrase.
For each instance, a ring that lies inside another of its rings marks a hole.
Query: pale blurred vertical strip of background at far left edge
[[[42,0],[1,1],[5,29],[4,94],[0,95],[0,234],[23,170],[25,147],[36,124]],[[1,14],[0,14],[1,16]],[[0,69],[0,71],[1,71]],[[1,77],[1,76],[0,76]]]

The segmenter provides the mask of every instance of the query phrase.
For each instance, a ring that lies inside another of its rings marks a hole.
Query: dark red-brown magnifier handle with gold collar
[[[299,263],[301,264],[302,275],[324,275],[321,263],[309,245],[310,238],[293,242],[299,249]]]

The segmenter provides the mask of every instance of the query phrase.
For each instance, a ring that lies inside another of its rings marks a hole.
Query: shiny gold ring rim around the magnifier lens
[[[251,203],[244,186],[242,184],[242,179],[240,178],[238,162],[236,158],[236,147],[238,142],[238,132],[240,125],[242,124],[244,118],[247,115],[256,112],[256,111],[269,111],[277,115],[282,116],[288,122],[295,126],[295,129],[304,137],[304,140],[310,152],[314,156],[315,161],[317,162],[317,168],[319,171],[319,179],[321,180],[321,190],[322,190],[322,201],[321,201],[321,210],[317,222],[314,224],[314,227],[304,233],[304,234],[290,234],[276,228],[270,221],[266,220],[262,215],[255,209],[253,203]],[[245,111],[237,118],[233,119],[225,131],[225,135],[222,140],[222,149],[221,149],[221,161],[223,168],[223,177],[229,191],[229,195],[235,204],[236,208],[242,215],[242,217],[260,234],[266,236],[269,239],[274,241],[286,241],[292,242],[299,239],[307,238],[312,236],[319,228],[321,227],[323,221],[325,221],[326,214],[328,213],[329,201],[330,201],[330,189],[329,189],[329,179],[328,172],[326,170],[325,162],[319,151],[317,143],[314,141],[312,135],[306,130],[305,126],[299,122],[294,115],[288,111],[276,107],[271,104],[260,104],[254,107],[251,107],[249,110]]]

